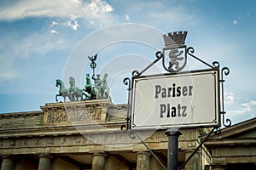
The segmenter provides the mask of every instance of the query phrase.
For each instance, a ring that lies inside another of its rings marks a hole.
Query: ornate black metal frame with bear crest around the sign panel
[[[228,76],[230,74],[230,69],[228,67],[220,67],[220,64],[218,61],[213,61],[212,65],[208,64],[206,61],[198,58],[195,56],[195,49],[192,47],[187,47],[187,45],[184,44],[185,38],[187,36],[187,31],[178,31],[173,33],[168,33],[166,35],[163,35],[165,40],[165,48],[163,48],[163,51],[158,51],[155,54],[156,59],[154,61],[146,66],[143,71],[132,71],[131,78],[125,77],[124,83],[128,87],[128,111],[127,111],[127,117],[126,117],[126,125],[122,126],[122,130],[129,130],[132,129],[131,127],[131,99],[132,99],[132,83],[131,80],[137,77],[143,76],[143,73],[147,71],[151,66],[158,63],[162,59],[162,66],[163,68],[172,74],[179,74],[182,73],[184,67],[187,65],[187,59],[188,57],[191,57],[193,59],[196,59],[197,61],[201,62],[202,64],[207,66],[207,69],[212,70],[218,70],[219,72],[219,100],[220,100],[220,107],[219,107],[219,117],[222,121],[222,124],[224,127],[230,127],[231,121],[229,118],[225,117],[226,111],[224,110],[224,76]],[[166,53],[169,52],[169,65],[166,65]]]

